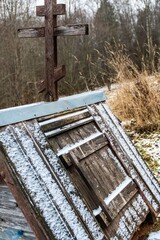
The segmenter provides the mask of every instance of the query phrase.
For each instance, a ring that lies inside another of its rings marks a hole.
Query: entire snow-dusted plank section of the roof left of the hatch
[[[13,169],[21,176],[21,185],[29,191],[34,209],[40,210],[56,239],[103,238],[38,124],[7,127],[0,138]]]

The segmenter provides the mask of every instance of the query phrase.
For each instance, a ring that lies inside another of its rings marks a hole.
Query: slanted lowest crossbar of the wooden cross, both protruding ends
[[[62,65],[58,68],[55,68],[54,70],[54,82],[58,82],[60,79],[62,79],[63,77],[65,77],[66,74],[66,69],[65,69],[65,65]],[[38,82],[37,84],[38,87],[38,92],[42,93],[43,91],[46,90],[46,82],[45,80],[42,80],[40,82]]]

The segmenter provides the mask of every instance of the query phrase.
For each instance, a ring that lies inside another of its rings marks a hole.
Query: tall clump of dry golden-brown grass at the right
[[[129,56],[120,50],[110,51],[108,63],[113,68],[118,89],[109,100],[110,107],[121,120],[131,120],[134,128],[154,130],[160,126],[159,75],[140,73]]]

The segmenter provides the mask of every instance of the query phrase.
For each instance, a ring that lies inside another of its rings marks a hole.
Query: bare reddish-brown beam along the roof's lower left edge
[[[36,208],[31,201],[27,200],[27,193],[24,187],[21,185],[18,174],[15,174],[14,167],[9,163],[7,153],[0,144],[0,166],[2,177],[5,183],[9,187],[9,190],[13,194],[18,206],[22,210],[27,222],[32,228],[37,239],[49,240],[53,236],[50,232],[46,233],[46,223],[40,220]]]

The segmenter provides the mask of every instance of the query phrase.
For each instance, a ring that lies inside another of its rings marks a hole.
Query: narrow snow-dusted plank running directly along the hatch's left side
[[[46,139],[44,138],[43,133],[39,129],[39,125],[35,122],[34,125],[29,124],[28,128],[34,135],[35,139],[41,145],[41,149],[44,151],[45,156],[47,157],[51,168],[55,171],[57,177],[61,184],[63,185],[66,193],[70,196],[72,204],[77,209],[77,213],[81,216],[82,221],[84,221],[86,227],[89,229],[94,239],[103,239],[103,234],[101,229],[95,222],[93,216],[90,214],[83,199],[80,197],[78,191],[74,187],[72,181],[70,180],[68,174],[65,169],[60,164],[57,155],[50,149],[50,146]]]

